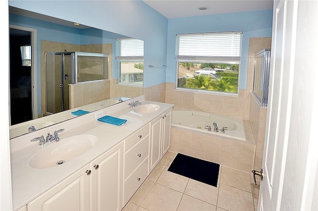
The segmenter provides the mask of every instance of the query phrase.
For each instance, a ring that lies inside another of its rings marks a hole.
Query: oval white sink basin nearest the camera
[[[79,157],[87,150],[92,148],[97,142],[94,135],[76,135],[61,139],[59,142],[53,142],[35,153],[29,165],[36,169],[51,168],[62,165],[74,158]]]

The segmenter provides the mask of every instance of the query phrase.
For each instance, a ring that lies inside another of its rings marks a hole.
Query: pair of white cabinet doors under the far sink
[[[172,108],[162,113],[150,123],[149,173],[156,167],[162,156],[170,148]]]

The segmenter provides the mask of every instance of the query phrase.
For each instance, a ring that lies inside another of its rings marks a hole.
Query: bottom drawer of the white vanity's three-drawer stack
[[[127,178],[123,184],[123,205],[130,200],[148,176],[148,158]]]

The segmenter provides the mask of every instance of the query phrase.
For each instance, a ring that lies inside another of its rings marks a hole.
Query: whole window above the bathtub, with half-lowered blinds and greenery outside
[[[177,34],[176,89],[237,95],[242,32]]]

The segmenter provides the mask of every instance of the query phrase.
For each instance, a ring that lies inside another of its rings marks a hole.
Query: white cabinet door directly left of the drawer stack
[[[120,143],[90,163],[91,210],[122,209],[122,160],[123,143]]]

